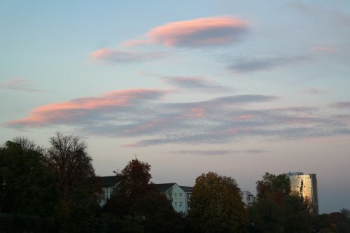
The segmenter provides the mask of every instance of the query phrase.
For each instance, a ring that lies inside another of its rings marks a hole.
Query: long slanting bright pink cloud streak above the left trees
[[[79,118],[88,118],[97,111],[116,110],[132,106],[141,101],[159,99],[166,91],[153,89],[131,89],[106,92],[100,97],[84,97],[71,101],[47,104],[34,108],[29,116],[8,122],[11,126],[39,127],[47,124],[67,123]]]

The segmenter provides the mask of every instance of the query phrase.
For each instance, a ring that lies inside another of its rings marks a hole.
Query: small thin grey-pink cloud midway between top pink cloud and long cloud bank
[[[223,85],[218,85],[211,80],[199,76],[174,76],[165,77],[162,80],[169,85],[188,90],[201,90],[206,92],[228,92],[231,89]]]

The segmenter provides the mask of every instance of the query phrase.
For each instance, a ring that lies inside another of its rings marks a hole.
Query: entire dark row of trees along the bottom
[[[315,215],[290,193],[286,175],[265,174],[257,202],[244,206],[235,179],[214,172],[195,181],[190,210],[176,213],[151,183],[151,166],[130,161],[104,206],[87,146],[57,133],[50,147],[26,138],[0,147],[0,232],[350,232],[350,211]]]

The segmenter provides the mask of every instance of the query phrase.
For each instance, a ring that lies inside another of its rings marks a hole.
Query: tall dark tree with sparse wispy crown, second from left
[[[87,146],[77,136],[57,133],[50,139],[48,167],[59,176],[62,212],[60,232],[96,232],[102,183],[94,174]]]

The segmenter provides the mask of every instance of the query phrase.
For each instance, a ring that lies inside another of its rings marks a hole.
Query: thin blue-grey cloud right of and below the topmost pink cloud
[[[289,64],[295,64],[297,62],[303,62],[309,59],[307,56],[296,57],[265,57],[265,58],[253,58],[243,59],[237,58],[233,60],[233,64],[228,66],[230,71],[237,73],[252,73],[255,71],[269,71],[276,69],[280,66],[287,66]]]

